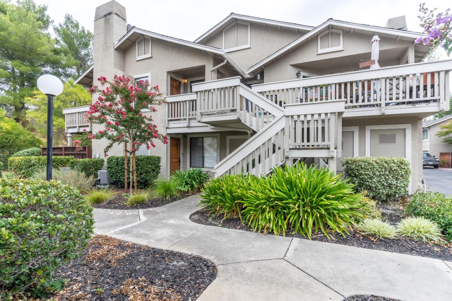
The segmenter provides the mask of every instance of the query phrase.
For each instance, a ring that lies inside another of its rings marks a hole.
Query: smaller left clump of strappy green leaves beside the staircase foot
[[[223,214],[223,219],[240,217],[242,197],[239,188],[244,188],[249,175],[224,175],[210,180],[202,189],[199,204],[214,216]]]

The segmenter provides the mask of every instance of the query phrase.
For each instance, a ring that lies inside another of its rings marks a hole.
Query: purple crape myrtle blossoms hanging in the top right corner
[[[419,4],[419,15],[421,20],[420,26],[424,28],[426,36],[416,39],[416,43],[423,43],[424,45],[432,45],[433,48],[441,46],[447,51],[447,56],[452,52],[452,15],[450,8],[443,13],[436,13],[436,9],[428,9],[425,3]]]

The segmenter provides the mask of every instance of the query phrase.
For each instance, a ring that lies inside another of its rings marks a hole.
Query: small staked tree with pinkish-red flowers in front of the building
[[[90,139],[108,140],[104,148],[104,156],[114,144],[126,143],[128,153],[132,156],[135,189],[137,178],[135,170],[135,152],[141,145],[147,149],[155,147],[154,139],[168,144],[168,136],[159,133],[157,125],[153,123],[152,116],[145,116],[141,109],[156,112],[156,105],[166,102],[158,86],[152,87],[149,82],[139,81],[139,84],[130,85],[130,79],[125,75],[113,77],[108,81],[104,76],[97,79],[103,89],[98,86],[89,88],[89,93],[99,93],[97,101],[86,112],[85,116],[94,124],[103,125],[104,129],[89,134]],[[127,158],[124,160],[125,164]],[[127,183],[127,179],[124,179]],[[132,181],[131,181],[132,186]]]

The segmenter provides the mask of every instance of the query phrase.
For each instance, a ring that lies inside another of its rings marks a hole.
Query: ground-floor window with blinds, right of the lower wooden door
[[[190,167],[215,167],[218,155],[217,146],[217,137],[191,137]]]

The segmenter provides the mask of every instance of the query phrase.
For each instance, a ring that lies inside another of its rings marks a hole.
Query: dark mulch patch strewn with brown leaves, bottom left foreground
[[[95,236],[84,255],[60,267],[68,284],[55,301],[194,301],[217,277],[198,256]]]

